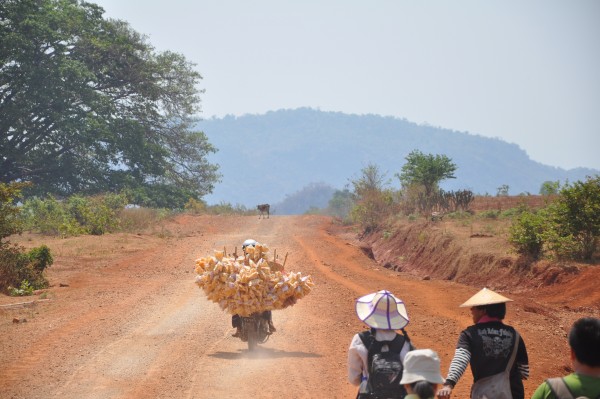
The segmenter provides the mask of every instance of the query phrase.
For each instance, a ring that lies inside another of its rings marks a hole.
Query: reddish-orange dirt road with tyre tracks
[[[196,258],[247,238],[288,253],[286,269],[316,284],[273,312],[278,331],[256,353],[231,337],[229,315],[193,283]],[[352,234],[318,216],[182,216],[154,234],[45,241],[56,258],[53,286],[30,306],[15,303],[34,298],[0,297],[2,398],[351,398],[346,350],[364,328],[355,298],[384,288],[402,298],[411,339],[438,351],[445,374],[470,324],[458,305],[477,290],[381,268]],[[568,369],[572,321],[598,317],[597,307],[565,309],[536,295],[512,295],[506,320],[528,347],[527,395]],[[468,397],[470,379],[455,398]]]

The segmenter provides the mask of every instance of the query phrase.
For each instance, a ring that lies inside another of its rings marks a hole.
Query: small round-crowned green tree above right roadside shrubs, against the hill
[[[413,150],[406,156],[402,172],[396,173],[404,187],[421,185],[427,198],[437,191],[439,182],[454,179],[456,165],[446,155],[423,154]]]

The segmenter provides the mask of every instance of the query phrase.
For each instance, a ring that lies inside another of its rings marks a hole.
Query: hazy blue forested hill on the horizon
[[[509,194],[537,194],[544,181],[583,180],[597,170],[565,170],[532,161],[516,144],[405,119],[378,115],[349,115],[310,108],[279,110],[263,115],[226,116],[198,123],[219,149],[210,157],[221,166],[222,182],[209,204],[228,202],[253,208],[256,204],[284,204],[306,187],[343,189],[369,163],[394,176],[414,149],[445,154],[457,165],[456,179],[442,183],[445,190],[470,189],[495,195],[509,186]],[[311,190],[308,190],[311,191]],[[302,213],[321,206],[322,198],[306,209],[275,207],[275,213]],[[305,206],[302,205],[302,206]],[[284,209],[286,208],[286,209]]]

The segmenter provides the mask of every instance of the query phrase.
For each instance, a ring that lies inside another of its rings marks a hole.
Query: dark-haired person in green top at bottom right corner
[[[584,317],[569,332],[574,373],[544,381],[531,399],[600,398],[600,319]]]

